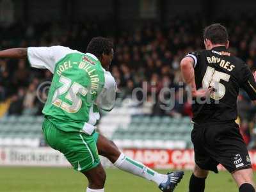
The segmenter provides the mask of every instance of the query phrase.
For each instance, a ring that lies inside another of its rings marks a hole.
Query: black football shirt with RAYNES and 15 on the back
[[[193,99],[193,122],[236,120],[239,88],[256,100],[256,83],[250,68],[224,46],[186,56],[194,60],[196,89],[213,88],[210,99]]]

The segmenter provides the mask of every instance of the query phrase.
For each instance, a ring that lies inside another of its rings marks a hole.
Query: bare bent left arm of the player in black
[[[195,70],[194,70],[194,60],[191,57],[185,57],[180,61],[180,70],[182,77],[188,86],[191,88],[192,97],[206,97],[211,93],[212,88],[207,90],[196,90],[195,83]]]

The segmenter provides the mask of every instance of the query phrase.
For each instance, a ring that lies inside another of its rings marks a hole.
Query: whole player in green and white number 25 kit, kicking
[[[157,173],[125,156],[112,141],[95,132],[99,108],[111,111],[115,104],[116,82],[108,72],[113,43],[108,38],[93,38],[86,54],[62,46],[0,51],[0,58],[27,57],[31,67],[47,68],[54,74],[43,109],[44,137],[87,177],[87,192],[104,192],[106,173],[99,154],[116,168],[156,182],[161,191],[175,189],[184,172]]]

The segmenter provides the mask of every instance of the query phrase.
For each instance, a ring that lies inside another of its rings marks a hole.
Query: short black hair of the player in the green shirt
[[[97,58],[100,58],[102,54],[110,54],[113,49],[113,42],[109,38],[102,36],[93,37],[87,46],[86,52],[92,53]]]

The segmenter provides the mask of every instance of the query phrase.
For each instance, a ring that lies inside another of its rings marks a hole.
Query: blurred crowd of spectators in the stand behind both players
[[[232,53],[255,70],[255,19],[244,16],[239,22],[229,17],[220,20],[230,33]],[[144,22],[140,27],[120,28],[118,33],[112,33],[104,22],[88,20],[86,24],[18,22],[8,28],[0,28],[0,47],[64,45],[84,52],[93,36],[109,36],[115,44],[111,73],[118,84],[120,97],[132,97],[134,88],[143,88],[147,99],[136,94],[137,99],[145,101],[141,107],[149,103],[153,115],[183,116],[191,115],[191,104],[186,91],[181,89],[184,85],[180,83],[179,61],[188,52],[204,49],[202,29],[206,24],[199,16],[173,18],[164,24]],[[40,115],[43,104],[36,96],[36,88],[44,81],[51,81],[51,77],[47,70],[29,68],[28,61],[0,60],[0,101],[12,101],[9,114]],[[163,88],[173,88],[174,92],[161,94]],[[180,98],[184,102],[179,102]],[[251,121],[255,106],[243,92],[238,106],[242,118]]]

